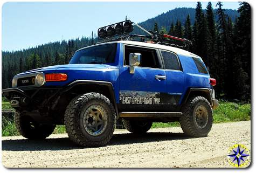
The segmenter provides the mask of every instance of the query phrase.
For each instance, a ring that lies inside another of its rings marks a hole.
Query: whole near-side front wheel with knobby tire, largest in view
[[[106,96],[87,93],[69,103],[64,124],[71,141],[79,146],[105,146],[113,136],[116,113]]]

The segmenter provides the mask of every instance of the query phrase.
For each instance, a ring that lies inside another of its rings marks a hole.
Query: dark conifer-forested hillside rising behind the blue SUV
[[[207,9],[178,8],[140,23],[148,30],[192,41],[188,50],[202,57],[217,79],[218,99],[251,98],[251,8],[241,2],[237,11],[224,10],[218,2]],[[91,37],[59,41],[15,52],[2,51],[2,87],[11,87],[13,75],[49,65],[67,64],[75,50],[95,43]]]

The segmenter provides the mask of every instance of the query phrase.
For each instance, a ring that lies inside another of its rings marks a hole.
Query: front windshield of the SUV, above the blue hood
[[[93,46],[75,52],[70,64],[108,64],[114,63],[116,53],[115,44]]]

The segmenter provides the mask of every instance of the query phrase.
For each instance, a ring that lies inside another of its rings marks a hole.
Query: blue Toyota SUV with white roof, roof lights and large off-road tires
[[[146,133],[153,122],[179,121],[186,135],[207,136],[218,100],[216,80],[203,60],[169,41],[185,39],[128,35],[133,25],[126,20],[100,28],[104,41],[76,51],[68,65],[15,75],[2,94],[16,110],[18,132],[44,139],[56,124],[65,124],[80,146],[104,146],[120,119],[136,134]]]

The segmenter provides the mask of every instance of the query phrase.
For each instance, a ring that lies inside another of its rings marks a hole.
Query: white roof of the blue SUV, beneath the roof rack
[[[103,44],[111,44],[111,43],[123,43],[123,44],[128,44],[128,45],[150,47],[150,48],[155,48],[155,49],[163,49],[163,50],[174,52],[176,54],[181,54],[183,56],[200,58],[196,54],[193,54],[189,51],[185,51],[183,49],[179,49],[177,47],[166,46],[166,45],[161,45],[161,44],[154,44],[154,43],[145,43],[145,42],[141,42],[141,41],[130,41],[130,40],[110,41],[110,42],[95,44],[95,45],[87,46],[87,47],[93,47],[93,46],[98,46],[98,45],[103,45]],[[82,49],[86,49],[87,47],[84,47]],[[79,49],[79,50],[82,50],[82,49]]]

